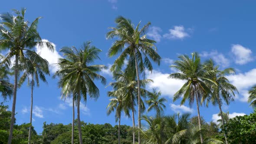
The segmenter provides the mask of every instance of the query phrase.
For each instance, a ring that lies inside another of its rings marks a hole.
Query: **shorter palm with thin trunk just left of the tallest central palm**
[[[125,115],[130,118],[129,106],[125,105],[124,95],[115,95],[115,91],[108,92],[108,97],[112,97],[107,106],[107,115],[115,111],[115,122],[118,121],[118,144],[120,144],[120,122],[121,112],[124,111]]]

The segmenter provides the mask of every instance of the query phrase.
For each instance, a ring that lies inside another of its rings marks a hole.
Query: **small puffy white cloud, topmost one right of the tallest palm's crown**
[[[163,35],[163,37],[167,39],[184,39],[188,36],[184,26],[174,26],[174,29],[169,29],[169,33]]]

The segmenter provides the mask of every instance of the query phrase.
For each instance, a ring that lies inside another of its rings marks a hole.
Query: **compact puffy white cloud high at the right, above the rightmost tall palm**
[[[242,45],[232,45],[231,52],[235,56],[236,64],[243,65],[253,61],[252,51]]]

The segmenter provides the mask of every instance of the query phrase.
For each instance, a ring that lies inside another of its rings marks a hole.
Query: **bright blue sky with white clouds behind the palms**
[[[230,116],[245,115],[253,111],[246,102],[247,90],[256,84],[256,20],[253,1],[215,0],[215,1],[186,1],[186,0],[4,0],[0,13],[20,10],[26,7],[26,18],[39,20],[38,31],[44,40],[54,43],[54,53],[47,50],[41,56],[49,63],[56,63],[62,56],[59,49],[62,46],[79,47],[84,41],[92,40],[92,44],[102,49],[101,61],[96,64],[112,65],[114,58],[108,58],[106,53],[112,40],[105,39],[109,26],[115,26],[117,16],[125,16],[137,25],[139,21],[152,24],[148,29],[148,37],[158,43],[158,53],[163,58],[160,66],[154,65],[152,74],[146,78],[154,83],[147,86],[148,90],[157,88],[162,96],[168,99],[165,113],[171,115],[180,112],[191,112],[196,115],[195,105],[190,108],[187,103],[180,107],[180,101],[172,101],[172,95],[181,87],[182,82],[167,79],[168,74],[175,72],[170,69],[177,56],[199,52],[202,59],[212,58],[222,69],[233,67],[236,75],[228,78],[239,89],[239,94],[230,105],[224,105],[223,111],[230,111]],[[36,49],[39,52],[38,49]],[[56,68],[51,66],[51,75]],[[112,82],[108,70],[102,72]],[[38,133],[43,130],[43,122],[64,123],[72,122],[71,101],[60,99],[58,79],[48,77],[48,85],[41,83],[34,90],[33,125]],[[107,116],[107,92],[110,87],[96,82],[100,89],[97,101],[88,99],[86,105],[82,102],[81,120],[93,124],[116,124],[114,114]],[[2,101],[2,99],[1,99]],[[11,107],[12,100],[6,102]],[[23,85],[18,90],[16,102],[16,123],[29,122],[30,88]],[[206,121],[216,121],[219,109],[212,105],[201,107],[201,115]],[[151,113],[152,114],[152,113]],[[136,116],[137,118],[137,116]],[[125,116],[121,124],[131,125],[131,119]]]

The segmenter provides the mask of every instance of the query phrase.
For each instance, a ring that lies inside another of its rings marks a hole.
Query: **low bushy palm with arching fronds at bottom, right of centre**
[[[141,130],[143,144],[223,144],[216,139],[205,139],[200,142],[200,135],[206,130],[199,126],[190,128],[190,114],[164,116],[158,113],[155,117],[142,116],[147,127]]]

